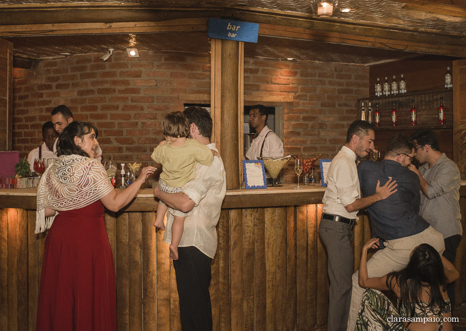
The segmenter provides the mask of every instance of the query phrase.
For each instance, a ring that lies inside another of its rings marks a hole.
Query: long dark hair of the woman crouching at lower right
[[[400,287],[400,301],[398,309],[408,312],[414,317],[414,303],[422,302],[422,292],[426,291],[426,285],[430,285],[430,300],[428,307],[443,310],[443,301],[440,287],[446,290],[447,279],[443,270],[440,254],[429,244],[420,244],[414,251],[406,268],[398,272],[391,272],[387,276],[387,284],[396,284]]]

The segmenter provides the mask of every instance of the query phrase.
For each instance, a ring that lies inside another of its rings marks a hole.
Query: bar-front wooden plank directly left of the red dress
[[[39,236],[34,233],[36,212],[27,211],[27,305],[28,330],[36,330],[37,304],[39,301]]]

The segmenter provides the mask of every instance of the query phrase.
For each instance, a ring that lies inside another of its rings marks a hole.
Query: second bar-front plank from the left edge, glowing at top
[[[8,209],[8,329],[18,329],[18,209]]]

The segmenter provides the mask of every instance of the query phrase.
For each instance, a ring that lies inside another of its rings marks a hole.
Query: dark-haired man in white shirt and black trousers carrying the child
[[[190,123],[190,138],[217,150],[210,143],[212,118],[206,109],[193,106],[184,110]],[[171,242],[173,215],[170,209],[189,212],[178,245],[178,260],[173,261],[180,298],[182,330],[212,330],[210,305],[210,263],[217,250],[216,225],[226,192],[225,169],[220,157],[210,166],[196,165],[195,177],[180,193],[165,193],[155,187],[154,195],[168,207],[163,241]]]

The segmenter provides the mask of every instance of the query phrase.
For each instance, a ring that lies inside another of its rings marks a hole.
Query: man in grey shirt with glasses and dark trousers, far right
[[[443,256],[455,264],[456,250],[463,234],[459,204],[460,169],[440,151],[439,141],[432,131],[420,130],[411,138],[416,142],[416,159],[421,164],[419,170],[415,166],[409,166],[419,177],[421,185],[419,214],[443,235]],[[448,284],[447,293],[452,310],[455,302],[454,289],[453,283]]]

